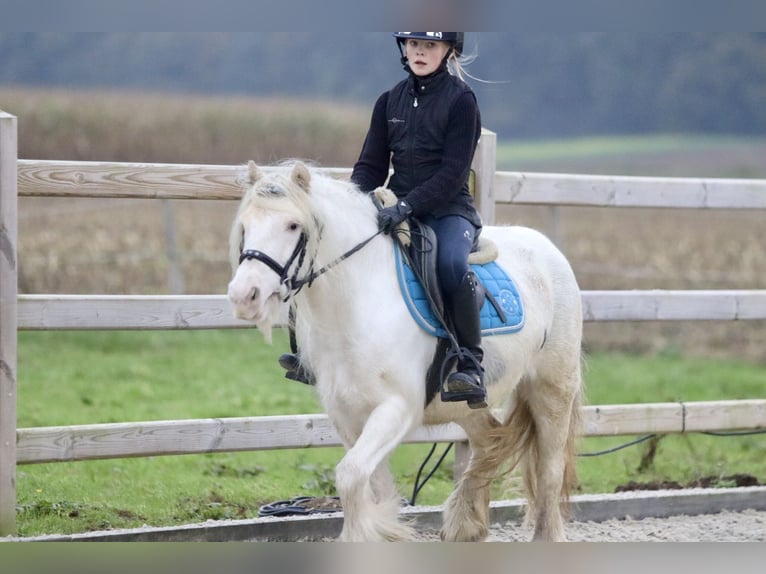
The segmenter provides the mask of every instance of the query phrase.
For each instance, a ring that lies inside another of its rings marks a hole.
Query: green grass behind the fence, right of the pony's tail
[[[587,403],[593,405],[760,399],[766,394],[766,366],[675,354],[597,353],[588,361],[586,381]],[[587,438],[581,441],[580,452],[606,450],[630,438],[634,437]],[[647,442],[609,455],[580,458],[583,492],[612,492],[629,481],[688,484],[735,473],[766,480],[766,435],[664,435],[654,455],[652,448]]]

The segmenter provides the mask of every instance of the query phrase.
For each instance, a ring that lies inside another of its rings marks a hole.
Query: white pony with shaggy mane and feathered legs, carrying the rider
[[[424,406],[437,339],[410,315],[392,240],[376,232],[376,208],[353,184],[301,162],[265,171],[248,164],[228,297],[267,341],[283,301],[295,307],[302,364],[347,449],[335,469],[340,539],[412,537],[399,517],[389,456],[420,425],[454,421],[471,458],[445,503],[441,538],[483,540],[490,482],[521,465],[533,538],[564,540],[582,395],[581,300],[568,262],[532,229],[485,227],[482,236],[497,244],[497,261],[518,287],[524,327],[484,338],[489,408],[438,394]]]

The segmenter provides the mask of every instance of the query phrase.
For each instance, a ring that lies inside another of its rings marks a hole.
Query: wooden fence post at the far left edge
[[[17,162],[16,117],[0,110],[0,536],[16,533]]]

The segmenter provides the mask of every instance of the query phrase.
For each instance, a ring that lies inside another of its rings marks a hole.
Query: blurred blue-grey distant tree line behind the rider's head
[[[502,137],[766,133],[766,33],[469,32]],[[0,84],[372,106],[404,72],[388,32],[0,32]],[[2,102],[0,102],[2,107]]]

